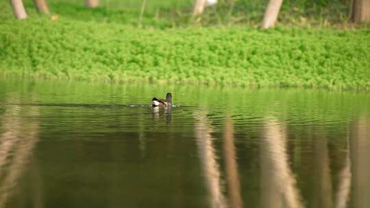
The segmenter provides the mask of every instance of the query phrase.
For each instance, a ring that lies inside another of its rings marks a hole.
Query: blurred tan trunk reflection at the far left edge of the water
[[[23,172],[29,168],[28,163],[38,141],[38,123],[22,120],[21,114],[37,116],[38,109],[12,106],[1,116],[3,128],[0,135],[0,207],[7,205]],[[34,207],[42,207],[38,200],[40,193],[31,194],[34,194]]]

